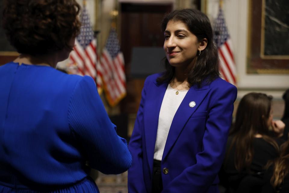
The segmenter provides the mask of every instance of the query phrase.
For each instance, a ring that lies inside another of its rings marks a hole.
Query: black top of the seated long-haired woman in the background
[[[232,136],[228,138],[227,150],[231,147]],[[276,140],[278,145],[281,145],[283,140]],[[220,182],[227,188],[237,190],[238,187],[249,187],[250,185],[263,185],[264,166],[268,160],[273,160],[279,156],[278,150],[271,144],[265,141],[263,138],[253,139],[253,159],[250,166],[250,172],[242,171],[238,172],[235,168],[235,145],[233,145],[231,151],[226,152],[226,158],[219,173]],[[248,183],[251,183],[250,185]],[[258,188],[260,190],[260,188]],[[244,190],[245,191],[245,190]],[[234,192],[234,191],[232,191]]]

